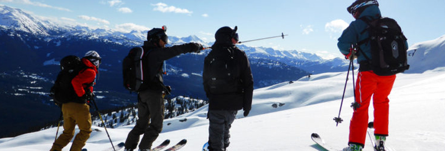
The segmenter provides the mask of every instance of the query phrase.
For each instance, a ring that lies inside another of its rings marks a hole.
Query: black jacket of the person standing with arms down
[[[239,78],[241,90],[234,89],[233,92],[224,94],[213,94],[210,92],[210,60],[213,54],[233,53],[236,65],[238,65],[235,77]],[[250,63],[244,51],[231,43],[218,43],[212,46],[212,50],[204,59],[204,69],[202,73],[204,91],[209,99],[209,110],[250,110],[252,106],[253,77],[250,70]]]

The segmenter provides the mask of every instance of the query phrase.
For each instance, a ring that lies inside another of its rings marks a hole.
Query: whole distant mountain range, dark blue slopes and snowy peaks
[[[66,55],[83,56],[86,51],[96,50],[102,56],[95,87],[100,109],[136,103],[136,94],[129,94],[122,88],[121,62],[132,47],[142,45],[146,33],[59,25],[0,5],[0,113],[7,115],[0,120],[15,122],[0,123],[0,129],[12,132],[2,131],[0,137],[58,119],[60,109],[50,101],[48,92],[60,70],[59,61]],[[168,46],[188,42],[212,45],[197,36],[169,36]],[[295,81],[311,73],[347,68],[347,62],[340,58],[325,60],[316,54],[296,50],[238,47],[249,57],[255,88]],[[201,75],[204,57],[209,51],[183,54],[166,61],[165,84],[172,87],[173,97],[181,95],[206,100]]]

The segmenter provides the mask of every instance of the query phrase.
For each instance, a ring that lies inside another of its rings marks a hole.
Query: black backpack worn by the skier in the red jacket
[[[61,71],[50,91],[50,97],[53,98],[56,105],[61,106],[68,102],[83,102],[74,91],[71,81],[85,68],[87,66],[82,63],[79,57],[74,55],[65,56],[60,60]]]

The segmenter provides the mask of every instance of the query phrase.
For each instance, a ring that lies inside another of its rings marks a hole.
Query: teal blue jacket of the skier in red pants
[[[382,15],[380,14],[379,7],[370,6],[363,10],[359,18],[368,18],[370,20],[375,20],[380,18],[381,16]],[[349,27],[347,27],[341,34],[340,38],[338,38],[337,43],[338,49],[340,49],[340,52],[343,53],[343,55],[347,55],[349,53],[349,48],[352,44],[356,44],[369,37],[368,31],[362,33],[362,31],[364,31],[367,27],[368,24],[360,19],[352,21],[351,24],[349,24]],[[357,62],[366,60],[365,56],[363,56],[362,53],[365,53],[366,56],[372,59],[371,46],[369,44],[369,41],[363,45],[360,45],[360,52],[357,55]]]

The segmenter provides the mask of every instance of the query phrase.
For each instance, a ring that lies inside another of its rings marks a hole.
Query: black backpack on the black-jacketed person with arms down
[[[211,94],[228,94],[241,92],[239,78],[239,66],[234,50],[228,48],[227,51],[210,51],[207,55],[209,59],[207,85]]]

